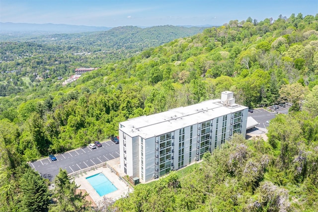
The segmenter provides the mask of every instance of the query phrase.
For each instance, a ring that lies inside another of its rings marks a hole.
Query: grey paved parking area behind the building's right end
[[[267,128],[268,124],[266,121],[272,120],[278,113],[287,114],[289,108],[290,106],[285,105],[285,107],[279,107],[278,109],[274,110],[274,112],[270,112],[263,108],[256,108],[253,109],[253,113],[248,112],[248,116],[251,116],[253,119],[255,119],[259,123],[260,128]]]

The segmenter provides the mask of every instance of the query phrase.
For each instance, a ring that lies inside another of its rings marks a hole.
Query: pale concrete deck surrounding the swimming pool
[[[117,163],[119,162],[118,160],[119,158],[116,158],[113,161],[107,161],[107,163],[112,167],[116,167]],[[118,169],[119,168],[117,168],[117,170]],[[108,180],[117,188],[117,190],[100,197],[95,189],[86,180],[86,177],[90,177],[98,173],[103,173],[108,178]],[[119,174],[120,176],[124,176],[122,173]],[[122,197],[125,197],[129,192],[132,191],[114,172],[111,171],[111,169],[105,166],[74,176],[74,181],[79,186],[79,189],[84,189],[89,194],[89,196],[97,206],[104,198],[110,198],[115,201]]]

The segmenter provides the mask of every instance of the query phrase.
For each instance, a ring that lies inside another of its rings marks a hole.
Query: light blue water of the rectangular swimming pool
[[[86,180],[100,197],[117,190],[117,188],[108,180],[107,177],[105,177],[103,173],[86,177]]]

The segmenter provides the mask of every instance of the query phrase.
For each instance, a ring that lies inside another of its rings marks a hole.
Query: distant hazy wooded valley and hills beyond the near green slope
[[[0,42],[0,96],[32,93],[34,88],[42,89],[61,77],[71,76],[76,68],[98,68],[203,29],[171,25],[145,29],[124,26],[108,31],[32,38],[26,34],[19,37],[19,41],[6,39]]]

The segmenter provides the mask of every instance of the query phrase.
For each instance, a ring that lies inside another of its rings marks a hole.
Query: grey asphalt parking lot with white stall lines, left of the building
[[[95,149],[83,147],[55,156],[57,158],[56,161],[51,161],[47,157],[32,162],[29,165],[38,171],[42,177],[53,181],[59,173],[60,168],[66,169],[70,174],[119,157],[119,144],[106,141],[102,143],[102,147]]]

